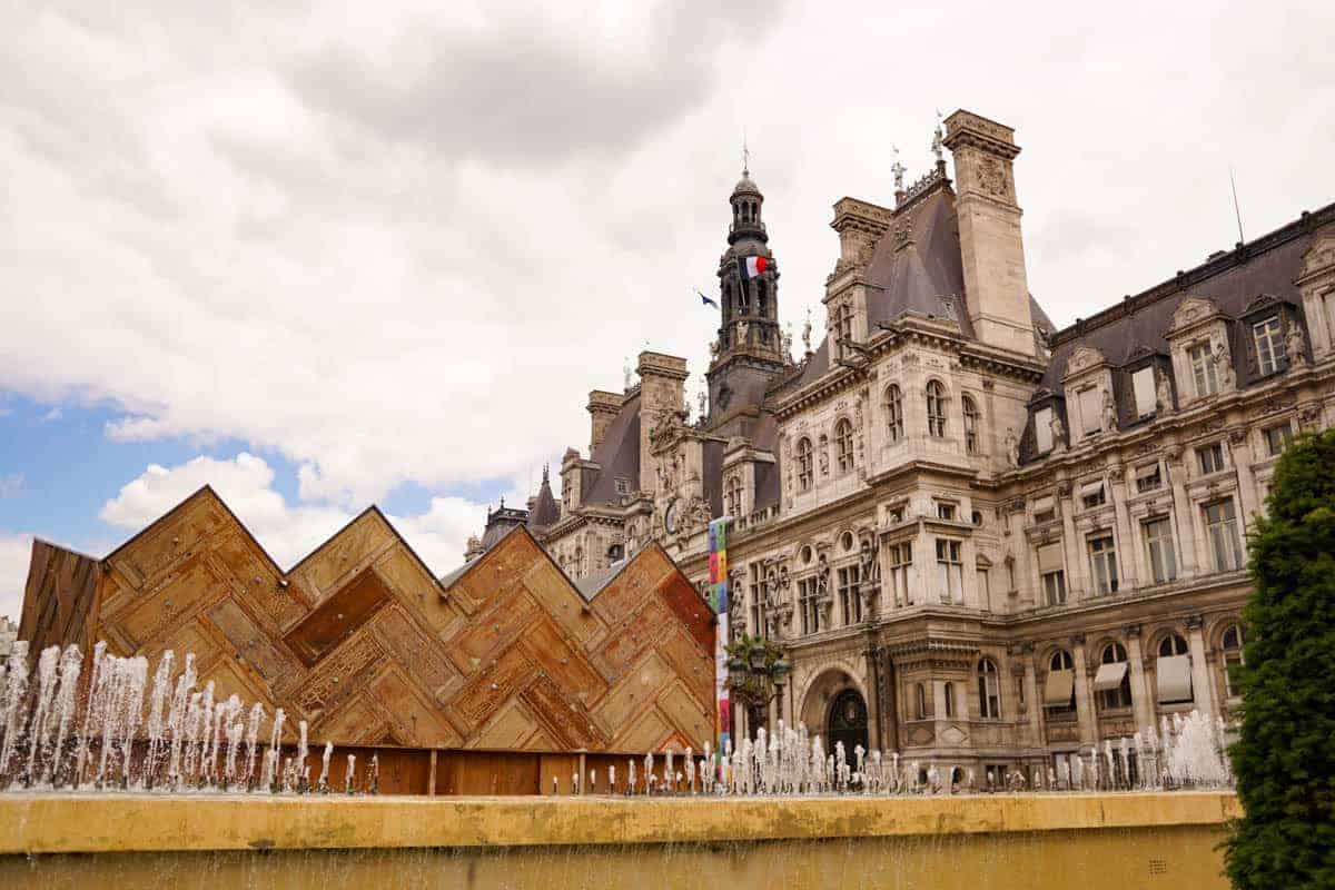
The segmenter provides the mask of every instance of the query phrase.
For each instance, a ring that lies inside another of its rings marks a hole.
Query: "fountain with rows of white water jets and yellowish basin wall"
[[[35,666],[31,655],[19,642],[0,666],[5,886],[45,886],[63,879],[61,870],[85,866],[95,879],[81,878],[80,886],[119,886],[127,874],[148,883],[154,869],[179,867],[179,857],[204,857],[199,867],[231,875],[231,861],[218,858],[223,851],[274,849],[304,858],[243,859],[251,869],[246,881],[254,883],[255,869],[291,867],[296,871],[274,882],[328,890],[338,881],[311,877],[327,878],[327,870],[308,874],[306,866],[284,863],[359,849],[378,851],[386,871],[348,861],[359,865],[347,866],[342,886],[396,882],[403,874],[418,875],[418,883],[439,882],[461,858],[493,875],[477,886],[513,886],[518,874],[541,874],[553,889],[586,886],[590,869],[602,869],[603,883],[625,877],[617,869],[630,869],[662,886],[694,886],[702,869],[718,867],[716,857],[728,857],[734,874],[742,867],[769,883],[828,883],[856,862],[858,870],[893,870],[914,886],[1032,890],[1048,885],[1041,869],[1025,873],[1035,841],[1024,838],[1040,838],[1044,862],[1083,862],[1103,849],[1088,845],[1107,841],[1081,839],[1081,833],[1108,830],[1139,857],[1147,850],[1173,857],[1183,883],[1222,886],[1211,883],[1218,874],[1214,846],[1220,825],[1238,813],[1231,794],[1210,793],[1232,782],[1224,726],[1195,711],[1116,743],[1107,739],[1101,749],[1073,751],[1048,767],[1045,778],[1040,770],[1032,787],[1019,770],[995,782],[989,774],[992,794],[975,794],[976,777],[963,765],[904,761],[861,745],[849,751],[840,741],[826,751],[821,735],[784,722],[754,741],[725,742],[718,751],[706,746],[702,757],[685,749],[647,751],[642,762],[629,758],[623,795],[610,763],[567,773],[571,795],[557,794],[555,777],[553,793],[543,797],[378,795],[374,751],[360,758],[347,751],[342,794],[331,794],[331,742],[312,753],[304,721],[294,730],[282,709],[268,714],[260,703],[224,698],[212,682],[202,682],[190,654],[178,659],[167,651],[152,671],[147,659],[112,655],[104,643],[93,648],[87,670],[73,646],[48,647]],[[312,782],[314,758],[319,771]],[[1096,810],[1088,807],[1089,790],[1100,791]],[[1172,790],[1177,803],[1164,806],[1156,797],[1161,790]],[[131,805],[134,818],[127,818]],[[846,843],[829,845],[830,838]],[[729,842],[730,853],[718,853],[718,842]],[[925,849],[916,846],[921,843],[933,854],[909,855]],[[511,851],[489,857],[497,847]],[[415,858],[394,853],[405,849],[417,850]],[[565,855],[542,853],[554,849]],[[670,853],[646,861],[643,850]],[[28,858],[43,851],[93,855]],[[943,851],[956,863],[951,870],[933,865]],[[454,858],[441,859],[442,853]],[[838,855],[854,858],[832,858]],[[988,866],[999,858],[1009,870]],[[79,862],[84,866],[71,865]],[[1139,886],[1139,873],[1129,867],[1100,869],[1087,890]],[[466,882],[471,875],[459,877]]]

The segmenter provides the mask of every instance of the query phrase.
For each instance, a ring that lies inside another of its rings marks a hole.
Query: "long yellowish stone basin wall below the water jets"
[[[1227,887],[1231,793],[0,795],[5,887]],[[222,885],[219,885],[222,881]]]

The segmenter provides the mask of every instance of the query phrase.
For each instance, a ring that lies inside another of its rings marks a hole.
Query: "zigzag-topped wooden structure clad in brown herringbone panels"
[[[284,572],[204,487],[100,560],[35,543],[20,639],[195,652],[318,743],[700,751],[713,623],[657,544],[586,596],[517,527],[442,582],[375,507]]]

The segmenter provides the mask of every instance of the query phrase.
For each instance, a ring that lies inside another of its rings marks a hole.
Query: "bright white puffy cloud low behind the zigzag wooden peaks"
[[[138,532],[204,484],[212,486],[283,568],[290,568],[355,515],[331,506],[287,503],[272,487],[272,467],[247,452],[230,460],[199,456],[176,467],[151,464],[123,486],[99,515]],[[426,512],[388,516],[438,576],[463,562],[467,538],[481,532],[485,519],[486,504],[463,498],[433,498]]]

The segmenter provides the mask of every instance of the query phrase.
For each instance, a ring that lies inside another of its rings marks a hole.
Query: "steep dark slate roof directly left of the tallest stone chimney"
[[[902,244],[898,232],[908,223],[910,238]],[[964,307],[964,263],[960,259],[960,227],[955,193],[943,184],[894,215],[877,242],[866,278],[868,326],[889,322],[905,312],[949,318],[965,336],[973,336]]]

